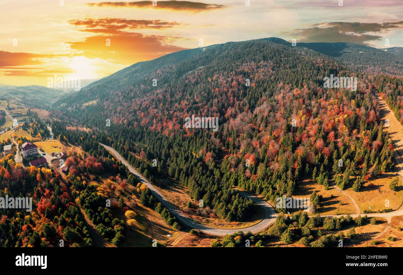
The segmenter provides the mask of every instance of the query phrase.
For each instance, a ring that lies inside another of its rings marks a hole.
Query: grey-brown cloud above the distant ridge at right
[[[296,29],[288,35],[300,42],[351,42],[368,44],[382,37],[378,34],[392,29],[403,29],[403,21],[386,23],[325,22],[312,24],[305,29]]]

